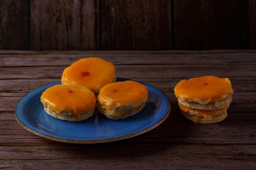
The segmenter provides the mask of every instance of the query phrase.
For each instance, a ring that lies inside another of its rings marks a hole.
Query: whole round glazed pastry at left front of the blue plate
[[[54,85],[41,95],[44,110],[51,116],[67,121],[82,121],[94,114],[96,97],[80,85]]]

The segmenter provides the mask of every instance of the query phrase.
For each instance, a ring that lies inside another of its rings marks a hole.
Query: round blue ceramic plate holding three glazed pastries
[[[60,82],[42,86],[23,97],[16,107],[16,119],[29,132],[60,142],[101,143],[138,136],[157,127],[170,113],[170,102],[160,90],[139,83],[148,87],[149,100],[141,112],[127,119],[112,120],[97,113],[84,121],[69,122],[48,115],[40,96],[46,88]]]

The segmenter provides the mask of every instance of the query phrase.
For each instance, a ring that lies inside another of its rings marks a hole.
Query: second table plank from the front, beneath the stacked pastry
[[[200,125],[183,118],[180,112],[172,111],[158,128],[146,134],[119,141],[119,143],[253,145],[256,144],[254,113],[234,113],[229,109],[225,121]],[[29,147],[31,143],[37,143],[37,146],[47,148],[53,147],[50,144],[54,141],[42,139],[22,129],[15,120],[13,111],[1,111],[0,119],[0,147]]]

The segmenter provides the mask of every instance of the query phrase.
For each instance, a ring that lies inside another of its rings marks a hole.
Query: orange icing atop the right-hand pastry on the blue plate
[[[116,82],[105,85],[100,89],[98,101],[108,100],[110,108],[116,106],[125,106],[129,103],[138,103],[148,99],[148,89],[146,86],[135,81]]]

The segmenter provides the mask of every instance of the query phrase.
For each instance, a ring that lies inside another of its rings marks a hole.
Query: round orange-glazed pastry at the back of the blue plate
[[[115,66],[97,57],[83,58],[64,69],[61,83],[82,85],[94,93],[104,85],[116,82]]]

